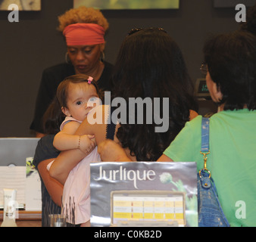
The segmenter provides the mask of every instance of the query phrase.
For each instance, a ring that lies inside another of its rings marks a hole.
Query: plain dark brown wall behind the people
[[[241,0],[242,3],[242,0]],[[42,70],[64,61],[64,40],[57,17],[73,0],[42,0],[42,11],[20,11],[9,23],[0,11],[0,137],[30,137]],[[110,23],[105,59],[114,64],[126,33],[134,27],[161,26],[179,43],[192,79],[201,77],[201,48],[210,33],[233,31],[239,24],[234,8],[214,8],[212,0],[180,0],[179,10],[103,11]]]

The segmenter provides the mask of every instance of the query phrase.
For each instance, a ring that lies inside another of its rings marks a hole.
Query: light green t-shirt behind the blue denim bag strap
[[[256,226],[256,110],[227,110],[210,119],[211,171],[220,204],[231,226]],[[174,161],[195,161],[204,166],[201,116],[186,123],[164,151]]]

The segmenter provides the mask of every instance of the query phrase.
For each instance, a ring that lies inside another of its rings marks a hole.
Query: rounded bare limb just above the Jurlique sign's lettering
[[[110,139],[102,141],[98,145],[98,153],[101,155],[102,161],[131,161],[130,158],[126,156],[123,147]]]

